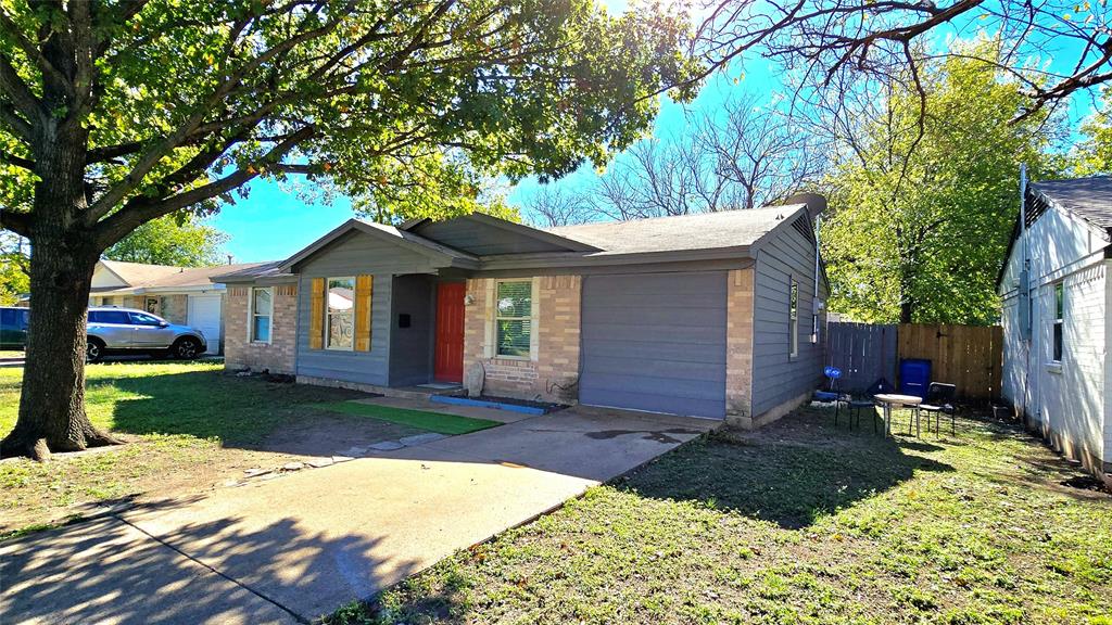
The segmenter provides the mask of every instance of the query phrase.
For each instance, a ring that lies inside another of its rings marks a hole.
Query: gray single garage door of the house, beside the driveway
[[[723,418],[726,275],[584,278],[579,400]]]

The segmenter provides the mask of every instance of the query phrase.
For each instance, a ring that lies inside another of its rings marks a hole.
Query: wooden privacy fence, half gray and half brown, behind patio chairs
[[[931,361],[931,379],[957,387],[957,396],[1000,396],[1004,334],[1000,326],[951,324],[828,324],[826,363],[842,369],[842,388],[863,393],[884,378],[898,385],[904,358]]]

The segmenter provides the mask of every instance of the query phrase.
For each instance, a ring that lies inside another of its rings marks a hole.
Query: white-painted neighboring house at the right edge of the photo
[[[1024,214],[997,282],[1004,396],[1112,482],[1112,177],[1033,183]]]

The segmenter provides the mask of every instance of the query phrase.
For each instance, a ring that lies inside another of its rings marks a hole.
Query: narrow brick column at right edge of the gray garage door
[[[726,421],[748,427],[753,397],[753,268],[729,271],[726,289]]]

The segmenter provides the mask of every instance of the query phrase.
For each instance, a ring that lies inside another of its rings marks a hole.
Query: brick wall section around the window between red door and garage
[[[467,280],[471,302],[464,317],[464,371],[486,371],[483,393],[574,404],[578,400],[579,276],[543,276],[536,285],[534,354],[529,359],[494,357],[495,280]]]

